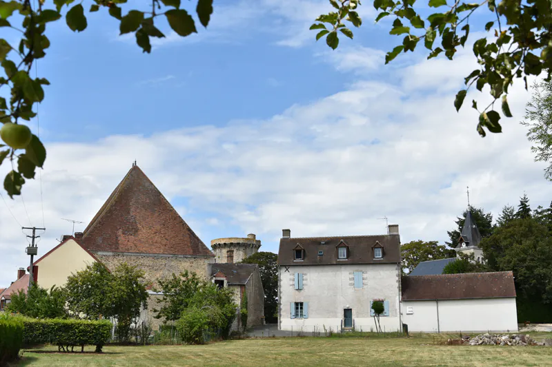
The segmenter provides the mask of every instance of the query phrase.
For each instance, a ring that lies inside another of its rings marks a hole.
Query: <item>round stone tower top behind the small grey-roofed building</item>
[[[257,240],[253,233],[248,234],[247,238],[217,238],[211,241],[211,249],[215,253],[217,263],[241,262],[257,253],[259,247],[261,241]]]

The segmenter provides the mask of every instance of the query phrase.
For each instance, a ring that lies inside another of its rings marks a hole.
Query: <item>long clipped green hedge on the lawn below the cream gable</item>
[[[30,319],[23,318],[23,344],[57,344],[58,350],[71,351],[75,346],[95,345],[96,353],[111,337],[112,325],[107,320]]]

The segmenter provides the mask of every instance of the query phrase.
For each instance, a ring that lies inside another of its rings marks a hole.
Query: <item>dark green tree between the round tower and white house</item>
[[[258,264],[264,289],[264,317],[268,324],[278,321],[278,255],[260,251],[250,255],[245,264]]]

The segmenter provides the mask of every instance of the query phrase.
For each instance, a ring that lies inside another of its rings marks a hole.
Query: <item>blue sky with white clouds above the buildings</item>
[[[476,132],[470,101],[488,103],[486,90],[453,107],[477,66],[471,45],[454,61],[428,61],[420,45],[384,65],[401,41],[388,34],[392,19],[374,23],[369,3],[354,40],[335,51],[308,30],[331,11],[326,0],[251,4],[216,1],[208,28],[186,39],[161,22],[166,38],[151,54],[119,36],[105,11],[81,33],[63,21],[48,28],[37,73],[51,85],[28,124],[48,157],[21,197],[0,202],[0,288],[28,266],[21,227],[46,227],[43,255],[72,232],[62,218],[82,231],[134,160],[207,245],[255,233],[262,251],[277,252],[282,229],[382,234],[384,218],[399,224],[402,243],[444,243],[467,186],[471,205],[495,218],[524,193],[533,209],[549,206],[545,165],[520,125],[522,85],[511,88],[502,134]],[[472,18],[481,25],[485,14]]]

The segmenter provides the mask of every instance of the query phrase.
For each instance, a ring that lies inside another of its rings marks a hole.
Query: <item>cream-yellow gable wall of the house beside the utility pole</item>
[[[95,255],[84,249],[72,236],[63,241],[34,262],[37,284],[45,289],[64,286],[67,277],[99,261]]]

